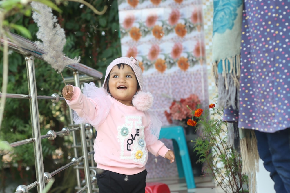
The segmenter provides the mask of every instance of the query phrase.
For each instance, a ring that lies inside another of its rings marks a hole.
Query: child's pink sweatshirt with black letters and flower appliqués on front
[[[145,169],[148,152],[164,157],[169,150],[150,132],[151,119],[157,117],[126,106],[110,95],[92,99],[78,87],[74,87],[73,93],[72,99],[66,100],[67,104],[97,130],[94,142],[97,168],[133,175]],[[102,107],[104,104],[106,109]]]

